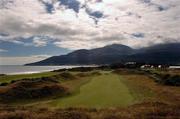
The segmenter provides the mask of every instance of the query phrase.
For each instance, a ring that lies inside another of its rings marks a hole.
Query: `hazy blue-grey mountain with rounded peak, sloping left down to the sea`
[[[134,50],[125,45],[108,45],[92,50],[77,50],[67,55],[53,56],[27,65],[90,65],[116,63]]]

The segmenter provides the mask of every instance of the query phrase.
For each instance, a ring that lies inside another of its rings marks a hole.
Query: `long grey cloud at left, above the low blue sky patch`
[[[0,32],[10,33],[14,37],[29,37],[36,35],[64,36],[78,34],[77,30],[67,27],[66,25],[70,24],[65,22],[60,25],[36,22],[28,24],[17,17],[6,16],[0,23]]]

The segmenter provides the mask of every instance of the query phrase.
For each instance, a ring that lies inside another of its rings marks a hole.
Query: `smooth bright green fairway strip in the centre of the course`
[[[76,95],[57,99],[50,104],[55,107],[118,107],[134,102],[128,87],[116,74],[103,74],[91,79]]]

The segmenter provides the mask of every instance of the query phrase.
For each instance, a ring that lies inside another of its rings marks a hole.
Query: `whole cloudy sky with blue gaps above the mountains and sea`
[[[0,0],[0,65],[180,42],[180,0]]]

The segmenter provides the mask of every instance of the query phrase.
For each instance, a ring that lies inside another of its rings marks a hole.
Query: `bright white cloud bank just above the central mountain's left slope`
[[[93,37],[93,38],[92,38]],[[54,44],[57,47],[67,48],[70,50],[78,49],[93,49],[98,47],[103,47],[108,44],[114,43],[123,43],[122,41],[126,40],[122,34],[113,34],[113,35],[95,35],[92,34],[89,38],[81,36],[77,38],[72,38],[73,40],[67,41],[56,41]],[[110,40],[111,39],[111,40]],[[79,42],[80,41],[80,42]]]

